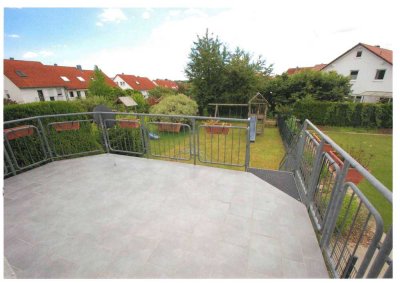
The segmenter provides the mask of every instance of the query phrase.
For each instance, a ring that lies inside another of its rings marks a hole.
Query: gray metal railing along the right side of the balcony
[[[278,125],[288,145],[280,170],[295,176],[332,276],[393,277],[392,227],[384,233],[383,219],[366,196],[378,195],[390,209],[392,192],[310,121],[300,131],[290,131],[284,119]]]

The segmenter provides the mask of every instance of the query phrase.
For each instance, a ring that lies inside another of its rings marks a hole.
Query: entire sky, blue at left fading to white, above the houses
[[[359,42],[393,49],[398,36],[393,2],[248,0],[216,6],[139,1],[126,7],[113,1],[107,8],[103,1],[96,8],[16,9],[10,7],[46,2],[9,1],[3,14],[4,57],[85,69],[96,64],[110,77],[124,72],[178,80],[185,79],[193,41],[208,28],[231,49],[262,55],[280,74],[329,63]]]

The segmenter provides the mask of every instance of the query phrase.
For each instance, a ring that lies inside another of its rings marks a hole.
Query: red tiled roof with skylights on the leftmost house
[[[19,76],[17,71],[26,76]],[[65,87],[66,89],[87,89],[93,70],[79,70],[75,67],[43,65],[36,61],[4,60],[4,75],[19,88]],[[61,76],[67,77],[64,81]],[[80,81],[78,77],[84,79]],[[117,85],[107,76],[109,86]]]

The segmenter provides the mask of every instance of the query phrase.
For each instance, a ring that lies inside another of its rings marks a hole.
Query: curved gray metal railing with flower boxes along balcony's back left
[[[105,152],[247,170],[249,120],[125,112],[36,116],[4,122],[4,149],[6,177]]]

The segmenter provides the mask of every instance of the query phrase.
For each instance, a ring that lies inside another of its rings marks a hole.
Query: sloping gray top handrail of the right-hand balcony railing
[[[372,175],[357,160],[355,160],[350,154],[336,144],[329,136],[319,130],[310,120],[306,119],[305,123],[311,126],[312,129],[317,132],[326,143],[330,144],[336,150],[336,152],[338,152],[350,163],[350,166],[354,167],[358,172],[360,172],[371,183],[371,185],[374,186],[374,188],[376,188],[390,203],[393,204],[393,193],[384,184],[376,179],[374,175]]]

